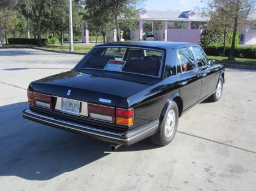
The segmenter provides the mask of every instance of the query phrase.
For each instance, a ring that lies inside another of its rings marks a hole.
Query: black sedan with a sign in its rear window
[[[141,41],[101,44],[71,71],[33,81],[23,117],[130,145],[170,143],[178,118],[222,95],[225,68],[197,44]]]

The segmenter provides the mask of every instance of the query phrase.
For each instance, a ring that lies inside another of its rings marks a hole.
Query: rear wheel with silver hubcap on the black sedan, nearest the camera
[[[154,144],[165,146],[174,139],[178,127],[178,106],[175,101],[171,101],[165,112],[159,131],[151,137]]]

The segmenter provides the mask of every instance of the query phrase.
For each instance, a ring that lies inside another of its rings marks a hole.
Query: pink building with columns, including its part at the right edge
[[[139,26],[130,32],[130,40],[144,40],[144,33],[150,32],[155,40],[181,41],[200,43],[201,32],[208,17],[203,17],[195,11],[150,11],[141,9],[139,13]],[[251,20],[256,20],[251,16]],[[240,44],[256,44],[256,26],[246,26],[240,33]]]

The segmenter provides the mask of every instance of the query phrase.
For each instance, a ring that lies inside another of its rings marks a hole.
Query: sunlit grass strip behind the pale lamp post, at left
[[[52,44],[52,45],[46,45],[41,48],[47,49],[47,50],[69,51],[69,44],[63,44],[63,45]],[[78,52],[78,53],[87,53],[89,50],[91,50],[91,48],[93,48],[93,46],[74,44],[74,52]]]

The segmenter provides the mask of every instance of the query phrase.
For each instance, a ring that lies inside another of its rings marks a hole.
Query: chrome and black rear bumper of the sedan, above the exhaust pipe
[[[131,145],[141,141],[144,138],[150,137],[156,133],[159,126],[159,120],[154,120],[150,123],[146,123],[145,125],[131,129],[130,131],[117,132],[105,131],[93,126],[85,126],[78,123],[57,119],[55,117],[44,116],[43,114],[31,111],[30,109],[23,110],[22,115],[24,118],[33,120],[38,123],[43,123],[45,125],[53,126],[55,128],[64,129],[67,131],[74,131],[81,134],[90,135],[103,141],[123,145]]]

